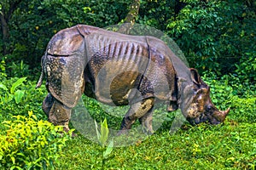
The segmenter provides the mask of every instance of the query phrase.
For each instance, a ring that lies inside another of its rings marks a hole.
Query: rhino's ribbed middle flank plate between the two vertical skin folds
[[[85,39],[85,94],[108,105],[128,105],[148,67],[146,37],[96,31]],[[139,99],[138,99],[139,100]]]

